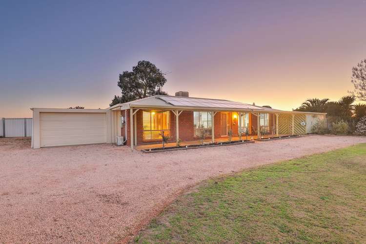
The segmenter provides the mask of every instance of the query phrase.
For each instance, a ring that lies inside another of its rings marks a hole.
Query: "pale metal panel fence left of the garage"
[[[0,137],[31,137],[32,119],[0,119]]]

